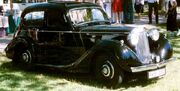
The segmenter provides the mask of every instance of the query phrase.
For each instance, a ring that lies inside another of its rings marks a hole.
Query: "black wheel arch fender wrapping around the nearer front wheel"
[[[115,62],[118,64],[119,68],[131,72],[131,66],[142,65],[133,50],[131,50],[127,45],[120,43],[113,43],[111,46],[100,46],[96,47],[91,54],[91,64],[94,65],[96,58],[100,55],[113,55]]]

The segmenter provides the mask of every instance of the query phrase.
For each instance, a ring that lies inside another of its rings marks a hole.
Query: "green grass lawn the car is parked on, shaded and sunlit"
[[[180,36],[170,38],[176,61],[167,64],[163,78],[123,83],[117,91],[179,91],[180,90]],[[24,69],[11,64],[0,53],[0,91],[108,91],[88,74],[70,74],[54,69]]]

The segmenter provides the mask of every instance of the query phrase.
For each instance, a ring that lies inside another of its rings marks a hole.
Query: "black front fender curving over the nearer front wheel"
[[[115,55],[117,64],[120,68],[129,72],[131,71],[130,67],[142,65],[133,50],[116,40],[101,40],[94,46],[92,51],[93,56],[96,56],[99,53],[111,53]]]

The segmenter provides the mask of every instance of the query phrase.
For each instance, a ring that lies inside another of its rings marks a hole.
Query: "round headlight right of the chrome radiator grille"
[[[159,39],[159,31],[157,29],[152,29],[148,32],[149,37],[154,40],[157,41]]]

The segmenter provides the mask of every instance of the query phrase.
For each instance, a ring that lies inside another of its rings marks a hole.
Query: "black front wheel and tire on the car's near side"
[[[112,55],[99,55],[96,59],[94,73],[96,79],[108,88],[117,88],[123,82],[124,73]]]

